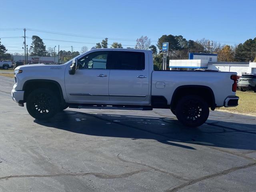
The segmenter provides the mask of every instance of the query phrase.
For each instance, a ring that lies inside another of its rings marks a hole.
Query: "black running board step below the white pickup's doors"
[[[136,105],[104,105],[104,104],[68,104],[69,108],[76,109],[123,109],[123,110],[153,110],[152,106]]]

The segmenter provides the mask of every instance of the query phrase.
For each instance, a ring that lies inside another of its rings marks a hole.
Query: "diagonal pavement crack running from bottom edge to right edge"
[[[240,169],[249,168],[249,167],[252,167],[252,166],[255,166],[255,165],[256,165],[256,163],[249,163],[247,165],[233,167],[233,168],[230,168],[230,169],[227,169],[227,170],[215,173],[215,174],[210,174],[210,175],[206,175],[206,176],[203,176],[203,177],[200,177],[200,178],[197,178],[197,179],[192,179],[188,182],[184,182],[183,184],[181,184],[179,186],[176,186],[174,188],[170,188],[170,189],[166,190],[165,192],[177,192],[178,190],[180,190],[180,189],[182,189],[186,186],[196,184],[200,181],[204,181],[204,180],[207,180],[207,179],[211,179],[211,178],[215,178],[215,177],[218,177],[218,176],[226,175],[226,174],[229,174],[231,172],[234,172],[234,171],[237,171],[237,170],[240,170]]]

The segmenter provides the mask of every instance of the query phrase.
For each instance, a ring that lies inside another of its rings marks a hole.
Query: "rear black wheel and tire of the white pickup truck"
[[[209,116],[208,103],[200,96],[182,97],[176,106],[176,117],[188,127],[198,127],[206,122]]]

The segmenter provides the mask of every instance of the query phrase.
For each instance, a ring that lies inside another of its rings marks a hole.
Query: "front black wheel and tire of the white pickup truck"
[[[52,90],[33,90],[26,99],[28,113],[38,120],[52,118],[59,111],[59,101]]]

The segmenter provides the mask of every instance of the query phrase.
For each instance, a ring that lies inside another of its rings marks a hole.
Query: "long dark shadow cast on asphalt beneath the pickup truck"
[[[256,126],[208,120],[199,128],[186,128],[176,118],[83,113],[64,110],[50,120],[34,120],[42,126],[78,134],[152,139],[163,144],[196,150],[193,144],[256,150]]]

